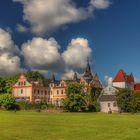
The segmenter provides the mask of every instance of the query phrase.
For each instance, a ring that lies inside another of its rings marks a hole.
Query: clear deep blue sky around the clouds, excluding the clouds
[[[28,17],[27,20],[23,19],[25,15],[23,10],[25,10],[25,7],[23,8],[24,4],[23,2],[21,3],[21,1],[1,0],[0,2],[0,28],[6,32],[7,30],[10,32],[9,34],[12,36],[14,44],[20,49],[23,43],[27,43],[28,40],[31,41],[33,37],[40,37],[47,40],[53,37],[59,46],[61,46],[59,53],[63,53],[72,39],[84,38],[88,40],[88,47],[92,49],[90,53],[92,70],[94,73],[98,73],[103,82],[105,75],[114,77],[121,68],[127,73],[132,72],[137,79],[140,79],[140,65],[138,63],[140,59],[139,0],[101,0],[108,1],[109,5],[102,8],[97,8],[94,5],[92,16],[86,17],[85,19],[79,18],[77,22],[73,22],[73,19],[70,19],[70,22],[64,23],[53,30],[51,26],[49,26],[51,30],[47,29],[43,34],[31,30],[31,26],[33,25],[31,25],[32,21],[29,19],[30,17]],[[74,1],[78,8],[87,8],[89,2],[90,1],[87,0]],[[85,11],[85,9],[83,11]],[[44,20],[44,22],[47,24],[48,20]],[[26,31],[19,31],[19,29],[17,29],[18,24],[25,27],[24,29],[26,29]],[[14,56],[15,53],[12,53],[12,55]],[[51,65],[48,67],[43,67],[43,65],[40,67],[35,66],[36,64],[31,64],[32,66],[30,66],[29,62],[26,63],[26,61],[23,60],[24,56],[20,55],[18,57],[20,58],[20,67],[22,69],[30,67],[30,69],[39,69],[44,72],[46,68],[49,71],[52,70],[56,72],[60,66],[57,65],[55,67],[50,63],[44,63],[45,65]],[[85,58],[83,61],[85,61]],[[0,60],[0,64],[1,63]],[[56,63],[53,65],[56,65]],[[81,64],[81,66],[76,68],[74,68],[74,65],[69,65],[68,67],[67,71],[77,70],[82,72],[84,65]],[[2,71],[3,69],[1,68],[0,70]],[[62,74],[62,72],[64,71],[60,70],[60,74]],[[2,74],[5,73],[1,73],[1,75]]]

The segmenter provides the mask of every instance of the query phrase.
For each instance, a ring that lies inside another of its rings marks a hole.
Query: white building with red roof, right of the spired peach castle
[[[118,112],[116,93],[128,89],[140,93],[140,83],[135,83],[133,74],[126,74],[122,69],[116,74],[112,83],[103,88],[99,96],[101,112]]]

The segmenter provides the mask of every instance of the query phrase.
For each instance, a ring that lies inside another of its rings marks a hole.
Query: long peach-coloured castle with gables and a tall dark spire
[[[63,100],[66,98],[66,87],[68,82],[78,82],[85,86],[85,92],[88,87],[95,87],[102,89],[102,84],[97,74],[93,75],[91,72],[89,60],[83,75],[78,78],[77,73],[74,73],[71,80],[57,81],[52,75],[50,82],[34,81],[27,79],[25,74],[19,76],[18,81],[12,86],[12,94],[17,101],[29,102],[51,102],[57,106],[62,106]]]

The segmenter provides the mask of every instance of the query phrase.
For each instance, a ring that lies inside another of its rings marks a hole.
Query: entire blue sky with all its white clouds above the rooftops
[[[140,0],[1,0],[0,76],[38,70],[140,79]]]

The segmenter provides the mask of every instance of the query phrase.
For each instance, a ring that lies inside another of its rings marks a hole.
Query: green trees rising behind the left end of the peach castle
[[[28,71],[26,74],[27,79],[47,81],[38,71]],[[12,84],[15,84],[19,78],[19,74],[12,76],[0,77],[0,94],[12,93]]]

